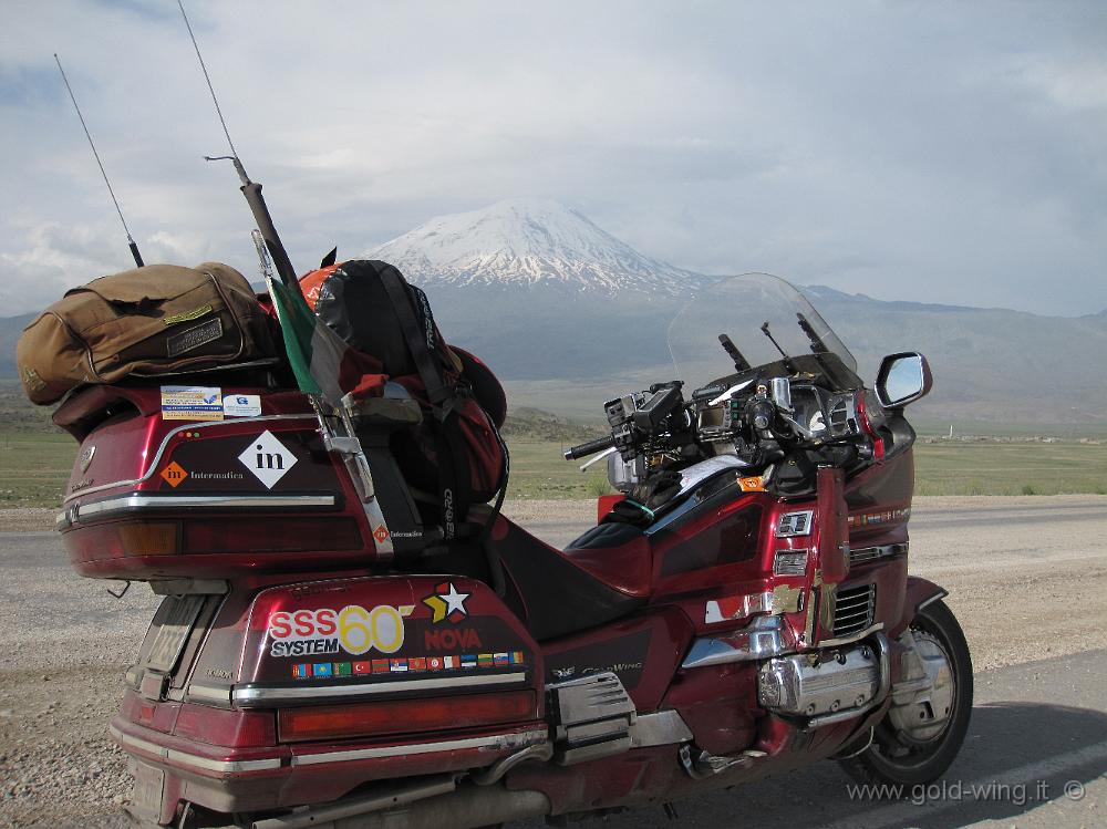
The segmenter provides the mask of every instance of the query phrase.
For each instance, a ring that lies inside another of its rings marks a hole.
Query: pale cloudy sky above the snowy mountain
[[[186,8],[297,267],[515,196],[881,299],[1107,308],[1107,3]],[[175,0],[0,7],[0,315],[130,263],[256,273]]]

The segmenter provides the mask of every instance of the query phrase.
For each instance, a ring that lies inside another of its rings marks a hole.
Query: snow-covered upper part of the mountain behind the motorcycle
[[[366,255],[422,286],[548,286],[683,296],[703,277],[642,256],[571,207],[509,199],[438,216]]]

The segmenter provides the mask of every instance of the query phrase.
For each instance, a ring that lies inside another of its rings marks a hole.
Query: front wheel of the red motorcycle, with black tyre
[[[931,783],[953,763],[969,729],[972,660],[956,618],[937,601],[919,611],[910,633],[929,682],[913,693],[893,693],[869,748],[840,760],[861,783]]]

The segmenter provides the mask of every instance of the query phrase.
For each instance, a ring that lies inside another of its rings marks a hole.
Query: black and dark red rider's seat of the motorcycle
[[[620,619],[646,603],[650,543],[633,531],[635,538],[615,548],[562,552],[498,516],[486,543],[505,571],[505,602],[541,642]]]

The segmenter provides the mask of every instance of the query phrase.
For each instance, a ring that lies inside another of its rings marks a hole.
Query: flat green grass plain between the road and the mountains
[[[563,429],[565,439],[508,433],[510,498],[593,498],[610,491],[603,462],[586,474],[561,450],[588,439]],[[0,507],[56,507],[76,444],[61,433],[0,432]],[[917,495],[1107,494],[1107,444],[920,442]]]

